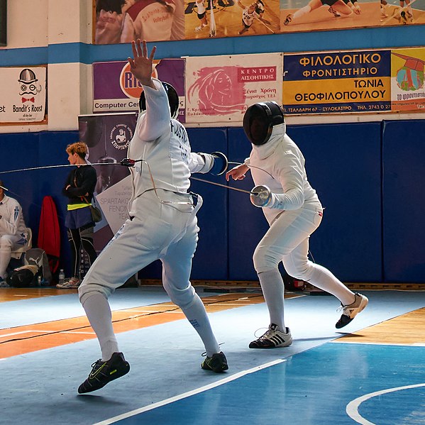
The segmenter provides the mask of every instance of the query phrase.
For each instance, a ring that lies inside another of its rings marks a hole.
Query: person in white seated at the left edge
[[[16,199],[7,197],[0,181],[0,287],[6,284],[6,270],[13,250],[28,243],[22,207]]]

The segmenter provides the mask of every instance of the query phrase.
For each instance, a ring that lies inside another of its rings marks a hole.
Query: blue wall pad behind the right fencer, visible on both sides
[[[346,282],[382,281],[380,123],[289,126],[306,158],[307,175],[326,207],[311,236],[314,260]],[[250,152],[241,129],[229,130],[229,156]],[[238,183],[251,189],[252,180]],[[231,280],[257,280],[251,257],[267,223],[248,195],[229,194]]]

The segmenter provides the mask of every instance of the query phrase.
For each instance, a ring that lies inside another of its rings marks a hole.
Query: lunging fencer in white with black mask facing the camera
[[[285,326],[284,284],[278,270],[309,282],[341,302],[343,314],[336,328],[346,326],[368,304],[368,299],[351,292],[329,270],[308,258],[309,236],[319,227],[324,209],[307,180],[304,157],[286,134],[282,107],[272,101],[250,106],[243,117],[245,135],[252,144],[250,157],[226,173],[226,180],[245,178],[250,170],[256,186],[250,200],[263,208],[270,225],[255,248],[253,263],[270,315],[267,331],[250,348],[286,347],[292,344]]]

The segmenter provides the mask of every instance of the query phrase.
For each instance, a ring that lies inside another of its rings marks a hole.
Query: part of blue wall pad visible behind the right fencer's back
[[[316,261],[344,282],[382,282],[380,123],[289,126],[325,207]]]

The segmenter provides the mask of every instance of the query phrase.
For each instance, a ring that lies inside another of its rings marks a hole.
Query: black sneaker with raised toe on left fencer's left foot
[[[79,394],[92,392],[104,387],[108,382],[126,375],[130,370],[130,365],[124,358],[123,353],[114,353],[106,362],[97,360],[92,364],[92,372],[82,385],[78,387]]]

